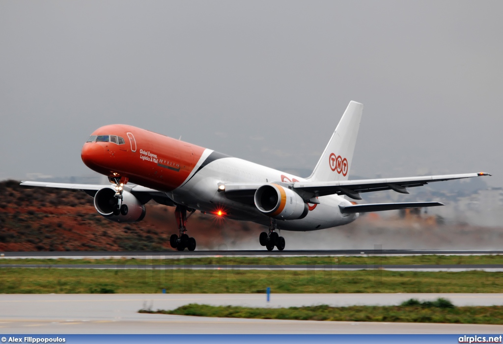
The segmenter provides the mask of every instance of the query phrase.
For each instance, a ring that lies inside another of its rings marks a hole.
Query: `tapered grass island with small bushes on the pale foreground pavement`
[[[435,302],[438,303],[439,300],[431,303]],[[158,310],[155,312],[140,310],[140,312],[257,319],[503,324],[502,306],[438,307],[419,304],[400,306],[330,307],[321,305],[290,308],[248,308],[188,304],[175,310]]]

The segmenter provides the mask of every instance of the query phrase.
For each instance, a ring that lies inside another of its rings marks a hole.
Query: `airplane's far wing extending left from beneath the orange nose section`
[[[36,187],[54,187],[60,189],[81,190],[88,195],[94,197],[98,190],[104,187],[110,187],[111,184],[69,184],[69,183],[46,183],[46,182],[30,182],[22,181],[20,185],[23,186],[36,186]],[[153,199],[157,203],[175,206],[176,204],[164,192],[150,189],[141,185],[124,185],[124,190],[131,192],[143,204]]]

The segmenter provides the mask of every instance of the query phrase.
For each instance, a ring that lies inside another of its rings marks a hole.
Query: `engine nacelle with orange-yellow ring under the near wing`
[[[293,190],[278,184],[262,185],[255,191],[255,206],[264,214],[282,219],[304,218],[309,211],[304,200]]]

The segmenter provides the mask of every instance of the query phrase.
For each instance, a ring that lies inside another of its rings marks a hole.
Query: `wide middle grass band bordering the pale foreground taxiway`
[[[499,293],[503,273],[0,269],[0,293]]]

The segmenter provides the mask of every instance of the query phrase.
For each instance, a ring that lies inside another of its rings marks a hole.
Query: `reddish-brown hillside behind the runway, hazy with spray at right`
[[[26,188],[0,182],[0,251],[164,251],[177,233],[173,207],[153,201],[140,222],[116,223],[98,214],[93,198],[74,190]],[[196,212],[188,220],[196,250],[265,250],[261,225]],[[409,211],[369,213],[355,222],[314,232],[286,232],[286,250],[500,250],[503,228]]]

